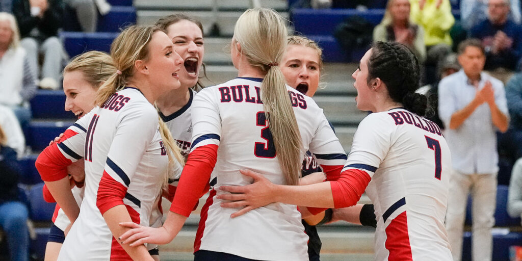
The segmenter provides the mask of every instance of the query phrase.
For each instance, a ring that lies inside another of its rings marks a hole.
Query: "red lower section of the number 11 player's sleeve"
[[[100,186],[98,187],[98,195],[96,197],[96,206],[100,210],[101,215],[112,207],[123,205],[125,193],[127,193],[127,188],[122,183],[115,181],[107,172],[103,171]]]

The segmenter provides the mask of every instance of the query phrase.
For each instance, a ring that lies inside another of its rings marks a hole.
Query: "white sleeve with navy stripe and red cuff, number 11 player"
[[[136,102],[126,108],[116,127],[98,187],[96,206],[102,215],[112,207],[123,205],[145,149],[158,132],[156,110],[144,103]]]

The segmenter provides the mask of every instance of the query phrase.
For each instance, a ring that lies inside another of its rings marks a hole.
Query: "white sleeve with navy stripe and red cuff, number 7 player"
[[[359,124],[341,176],[330,182],[335,208],[355,205],[386,157],[396,129],[386,116],[370,114]]]

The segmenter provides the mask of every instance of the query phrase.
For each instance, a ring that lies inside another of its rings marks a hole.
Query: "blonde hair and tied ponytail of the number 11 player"
[[[98,89],[94,103],[101,106],[111,95],[125,87],[134,76],[134,63],[148,57],[152,34],[163,31],[156,26],[129,26],[111,44],[111,57],[116,72]]]

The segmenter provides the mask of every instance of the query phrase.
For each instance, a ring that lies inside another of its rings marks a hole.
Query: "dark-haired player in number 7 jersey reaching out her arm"
[[[285,186],[243,171],[254,184],[221,186],[232,194],[217,200],[241,208],[233,220],[273,202],[351,206],[366,190],[377,218],[375,260],[452,260],[444,227],[451,158],[440,129],[422,117],[417,58],[405,45],[377,42],[352,77],[357,108],[373,113],[359,124],[337,181]]]

